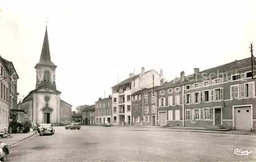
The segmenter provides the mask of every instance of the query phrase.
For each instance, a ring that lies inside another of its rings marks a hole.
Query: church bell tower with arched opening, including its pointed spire
[[[39,62],[35,65],[36,87],[46,86],[56,89],[55,69],[56,65],[51,61],[48,32],[46,26],[45,38],[42,43],[42,51]]]

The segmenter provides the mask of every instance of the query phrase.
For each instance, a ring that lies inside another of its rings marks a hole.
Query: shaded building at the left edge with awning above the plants
[[[18,113],[26,113],[17,109],[17,80],[19,79],[11,61],[0,56],[0,132],[9,129],[10,122],[16,121]]]

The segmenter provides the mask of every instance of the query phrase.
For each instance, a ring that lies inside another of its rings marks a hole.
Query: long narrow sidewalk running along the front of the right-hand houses
[[[205,128],[194,128],[194,127],[157,127],[157,126],[133,126],[133,127],[161,128],[161,130],[173,131],[173,132],[199,132],[199,133],[222,133],[222,134],[256,135],[255,131],[243,131],[243,130],[219,131],[219,130],[208,130],[208,129],[205,129]]]

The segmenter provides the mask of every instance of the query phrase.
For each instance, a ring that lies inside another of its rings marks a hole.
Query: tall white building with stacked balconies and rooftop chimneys
[[[153,79],[154,75],[154,79]],[[158,86],[166,82],[163,71],[157,73],[155,70],[145,72],[141,67],[141,73],[134,75],[112,87],[112,120],[113,125],[132,125],[132,94],[143,88]],[[140,99],[137,99],[140,100]]]

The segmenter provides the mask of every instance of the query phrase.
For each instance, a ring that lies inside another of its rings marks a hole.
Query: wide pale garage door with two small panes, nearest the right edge
[[[234,124],[236,130],[251,129],[251,107],[234,108]]]

